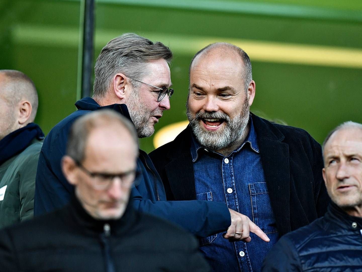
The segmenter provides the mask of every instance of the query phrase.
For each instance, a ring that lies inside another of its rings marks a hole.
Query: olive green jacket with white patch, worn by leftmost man
[[[0,165],[0,228],[33,218],[35,175],[43,140]]]

